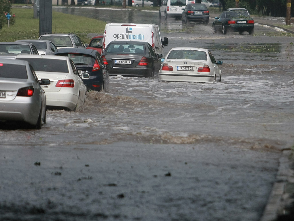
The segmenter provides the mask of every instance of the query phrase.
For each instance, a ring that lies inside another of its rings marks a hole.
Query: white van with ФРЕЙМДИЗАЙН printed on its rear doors
[[[148,42],[154,49],[156,54],[162,54],[163,46],[168,45],[168,38],[163,41],[160,36],[158,25],[156,24],[122,24],[108,23],[105,25],[102,52],[112,41],[140,41]]]

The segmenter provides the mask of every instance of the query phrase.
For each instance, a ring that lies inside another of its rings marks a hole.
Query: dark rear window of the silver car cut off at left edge
[[[0,63],[0,77],[28,79],[26,66]]]

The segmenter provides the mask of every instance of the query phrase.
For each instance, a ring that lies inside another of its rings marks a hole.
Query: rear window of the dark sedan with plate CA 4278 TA
[[[109,44],[106,52],[146,53],[144,44]]]

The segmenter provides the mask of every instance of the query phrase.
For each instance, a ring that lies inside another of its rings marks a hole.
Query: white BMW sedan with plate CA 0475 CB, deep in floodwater
[[[175,47],[165,58],[158,72],[159,81],[214,82],[220,81],[221,70],[210,50],[204,48]]]

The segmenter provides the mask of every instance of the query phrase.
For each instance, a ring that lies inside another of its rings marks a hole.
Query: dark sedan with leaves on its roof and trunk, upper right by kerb
[[[219,17],[215,17],[212,28],[214,32],[221,31],[223,34],[228,30],[253,34],[254,20],[245,11],[223,11]]]

